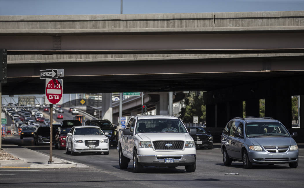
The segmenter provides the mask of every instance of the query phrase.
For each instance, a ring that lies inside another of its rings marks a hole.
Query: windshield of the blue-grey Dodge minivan
[[[277,122],[254,122],[246,123],[247,137],[280,136],[290,137],[282,123]]]

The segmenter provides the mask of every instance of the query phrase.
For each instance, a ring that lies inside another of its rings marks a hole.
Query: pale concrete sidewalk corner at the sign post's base
[[[50,157],[17,145],[3,144],[2,149],[20,160],[0,161],[0,168],[71,168],[77,167],[76,163],[52,157],[54,163],[48,164]],[[79,164],[80,165],[80,164]],[[83,166],[78,166],[83,167]]]

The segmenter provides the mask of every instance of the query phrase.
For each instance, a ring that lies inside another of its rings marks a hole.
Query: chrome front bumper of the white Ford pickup
[[[174,163],[164,163],[164,158],[174,158]],[[195,163],[196,155],[137,155],[143,166],[187,166]]]

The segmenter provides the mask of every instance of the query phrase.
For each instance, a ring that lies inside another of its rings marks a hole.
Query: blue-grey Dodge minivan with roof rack
[[[252,163],[288,163],[298,166],[299,150],[285,126],[273,118],[238,117],[230,120],[221,136],[221,151],[225,166],[232,161],[243,162],[244,168]]]

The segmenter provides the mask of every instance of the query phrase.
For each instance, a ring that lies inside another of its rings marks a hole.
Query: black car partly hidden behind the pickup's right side
[[[202,127],[187,127],[187,130],[196,129],[196,135],[191,135],[195,142],[195,147],[207,147],[208,149],[213,148],[213,137],[210,131],[206,131]]]

